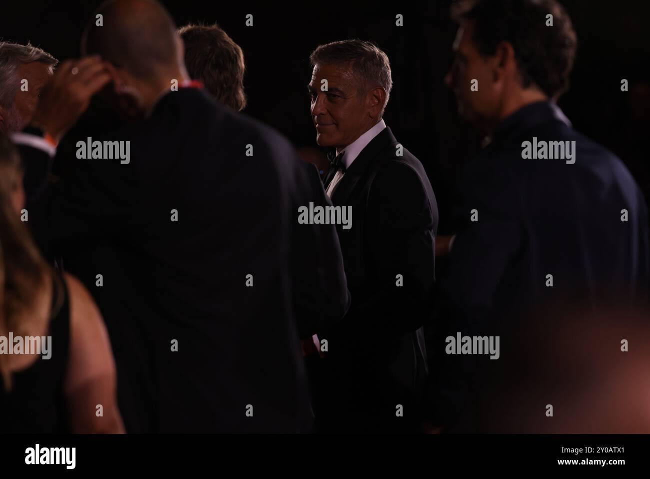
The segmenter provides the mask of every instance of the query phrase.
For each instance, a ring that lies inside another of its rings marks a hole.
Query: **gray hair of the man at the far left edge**
[[[59,63],[55,57],[31,44],[0,42],[0,107],[11,108],[19,88],[16,70],[21,64],[43,62],[53,70]]]

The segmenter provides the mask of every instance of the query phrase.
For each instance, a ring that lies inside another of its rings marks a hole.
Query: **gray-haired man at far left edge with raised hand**
[[[23,158],[23,187],[34,219],[57,144],[110,80],[99,57],[59,61],[31,44],[0,42],[0,131]],[[60,75],[54,81],[54,67]],[[35,221],[30,221],[34,225]],[[38,234],[35,234],[38,240]],[[41,245],[42,246],[42,245]]]

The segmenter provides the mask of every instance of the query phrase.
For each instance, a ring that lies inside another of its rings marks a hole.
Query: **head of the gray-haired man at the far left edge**
[[[31,122],[41,90],[58,62],[30,44],[0,42],[0,131],[21,131]]]

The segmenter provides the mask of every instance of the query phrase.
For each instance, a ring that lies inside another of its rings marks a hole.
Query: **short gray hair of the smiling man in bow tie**
[[[363,40],[341,40],[318,46],[309,55],[311,66],[322,64],[350,64],[352,70],[363,79],[366,85],[380,86],[386,92],[379,117],[388,104],[393,88],[391,64],[388,57],[375,44]]]

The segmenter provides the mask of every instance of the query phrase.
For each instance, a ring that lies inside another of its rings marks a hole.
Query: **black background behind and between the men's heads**
[[[2,40],[32,44],[59,60],[79,55],[85,21],[99,0],[5,3]],[[448,212],[463,162],[478,139],[456,118],[443,85],[456,27],[451,0],[420,2],[162,1],[177,25],[218,23],[244,51],[244,113],[270,124],[296,147],[316,146],[306,85],[309,53],[344,38],[372,40],[391,61],[393,91],[385,120],[400,143],[424,164],[439,202],[439,233],[450,232]],[[650,3],[643,0],[567,0],[578,34],[571,89],[559,104],[577,130],[616,152],[650,194]],[[246,27],[246,14],[253,27]],[[396,27],[395,16],[404,16]],[[621,92],[621,79],[630,91]],[[552,189],[552,185],[549,185]],[[648,196],[647,196],[648,197]]]

